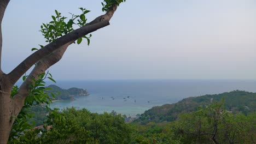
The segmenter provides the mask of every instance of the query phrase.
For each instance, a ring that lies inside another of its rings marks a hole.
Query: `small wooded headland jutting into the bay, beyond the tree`
[[[52,95],[53,93],[55,95],[55,100],[74,100],[75,96],[87,96],[90,95],[87,89],[82,88],[69,88],[69,89],[62,89],[59,86],[56,85],[49,85],[48,87],[51,88],[51,90],[48,92],[49,95]]]

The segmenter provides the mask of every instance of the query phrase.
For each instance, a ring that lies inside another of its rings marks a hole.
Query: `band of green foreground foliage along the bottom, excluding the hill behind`
[[[233,115],[224,110],[224,101],[181,113],[174,122],[145,125],[124,123],[115,111],[98,115],[71,108],[59,117],[50,112],[42,135],[38,130],[26,131],[18,143],[254,143],[255,117],[255,112]]]

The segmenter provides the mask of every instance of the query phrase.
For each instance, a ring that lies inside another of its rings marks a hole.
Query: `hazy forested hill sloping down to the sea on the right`
[[[178,103],[154,106],[152,109],[145,111],[138,121],[148,122],[171,122],[174,121],[179,113],[191,112],[197,110],[198,106],[207,106],[213,100],[220,101],[224,98],[224,106],[227,111],[232,113],[255,112],[256,110],[256,93],[245,91],[232,91],[222,94],[207,94],[200,97],[185,98]]]

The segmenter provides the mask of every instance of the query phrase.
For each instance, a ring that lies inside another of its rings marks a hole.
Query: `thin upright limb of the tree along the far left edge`
[[[10,0],[0,0],[0,73],[3,74],[2,71],[2,45],[3,45],[3,38],[2,38],[2,20],[4,16],[5,9],[7,8],[7,5]]]

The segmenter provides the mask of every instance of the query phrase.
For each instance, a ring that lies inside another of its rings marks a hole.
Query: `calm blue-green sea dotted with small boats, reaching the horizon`
[[[218,94],[236,89],[256,92],[256,80],[90,80],[57,81],[61,88],[84,88],[90,95],[74,101],[56,101],[51,107],[86,108],[103,113],[112,110],[136,116],[153,106],[176,103],[183,98]]]

